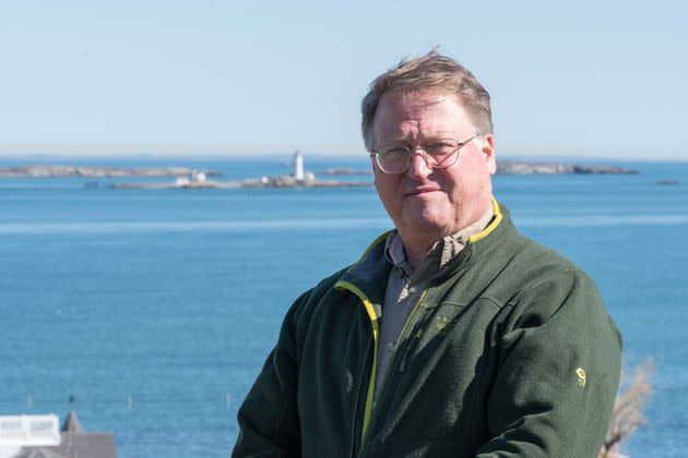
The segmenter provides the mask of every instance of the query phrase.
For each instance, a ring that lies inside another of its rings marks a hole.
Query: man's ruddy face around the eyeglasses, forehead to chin
[[[456,164],[431,169],[417,147],[431,140],[463,142],[476,132],[455,95],[426,92],[405,96],[387,93],[378,106],[375,148],[407,145],[413,149],[408,170],[384,173],[375,159],[375,185],[404,243],[434,243],[478,220],[491,205],[491,174],[496,171],[491,134],[463,146]]]

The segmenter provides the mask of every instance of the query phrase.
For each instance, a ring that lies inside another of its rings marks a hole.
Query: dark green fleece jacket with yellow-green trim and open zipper
[[[430,282],[372,403],[384,236],[289,309],[233,457],[596,457],[620,335],[593,281],[496,218]]]

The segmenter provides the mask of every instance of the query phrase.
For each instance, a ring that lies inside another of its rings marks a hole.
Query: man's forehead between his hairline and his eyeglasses
[[[456,135],[473,130],[455,94],[423,92],[384,94],[373,122],[376,138]]]

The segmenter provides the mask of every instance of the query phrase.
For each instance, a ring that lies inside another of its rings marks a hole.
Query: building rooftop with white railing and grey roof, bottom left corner
[[[117,458],[110,433],[88,433],[70,410],[58,432],[50,415],[0,417],[0,458]]]

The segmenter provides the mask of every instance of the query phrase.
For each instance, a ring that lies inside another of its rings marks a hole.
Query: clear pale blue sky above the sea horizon
[[[0,155],[365,154],[369,82],[434,45],[508,156],[688,159],[680,1],[2,1]]]

